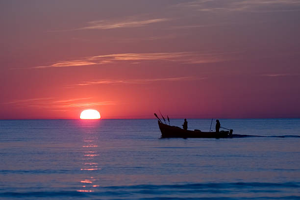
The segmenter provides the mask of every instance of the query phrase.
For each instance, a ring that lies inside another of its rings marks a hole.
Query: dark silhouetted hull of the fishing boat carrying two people
[[[184,130],[178,126],[166,125],[158,121],[162,138],[227,138],[229,131],[202,132],[200,130]]]

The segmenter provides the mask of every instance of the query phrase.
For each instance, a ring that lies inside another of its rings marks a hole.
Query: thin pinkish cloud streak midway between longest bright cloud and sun
[[[72,86],[88,86],[88,85],[99,85],[99,84],[146,84],[157,81],[186,81],[186,80],[199,80],[206,79],[206,77],[193,77],[193,76],[184,76],[184,77],[169,77],[169,78],[146,78],[146,79],[128,79],[128,80],[95,80],[95,81],[86,81],[74,85],[68,85],[68,87]]]

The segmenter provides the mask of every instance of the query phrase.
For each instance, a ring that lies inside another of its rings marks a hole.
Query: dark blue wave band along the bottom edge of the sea
[[[188,184],[168,184],[168,185],[124,185],[124,186],[106,186],[93,188],[93,190],[78,191],[27,191],[27,192],[1,192],[0,197],[5,198],[51,198],[61,199],[69,197],[85,197],[98,198],[105,197],[105,199],[115,199],[116,197],[127,200],[183,200],[183,199],[227,199],[230,194],[236,194],[239,191],[240,199],[244,194],[255,195],[263,193],[266,197],[259,197],[258,199],[274,199],[273,194],[279,194],[284,191],[299,191],[300,182],[283,182],[283,183],[263,183],[263,182],[227,182],[227,183],[188,183]],[[55,189],[54,189],[55,190]],[[191,196],[192,195],[192,196]],[[194,198],[195,195],[202,196],[202,198]],[[209,198],[207,197],[209,195]],[[222,198],[221,198],[222,197]],[[281,197],[281,199],[297,199],[296,196]],[[233,198],[234,199],[234,198]],[[254,198],[257,199],[257,198]],[[275,198],[276,199],[276,198]],[[280,198],[279,198],[280,199]]]

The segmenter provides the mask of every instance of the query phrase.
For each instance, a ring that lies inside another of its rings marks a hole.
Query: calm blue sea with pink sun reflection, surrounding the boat
[[[300,119],[220,122],[237,135],[160,139],[156,120],[0,121],[0,199],[300,199]]]

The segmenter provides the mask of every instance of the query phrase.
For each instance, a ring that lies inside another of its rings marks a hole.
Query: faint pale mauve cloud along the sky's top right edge
[[[299,0],[195,0],[175,5],[198,11],[289,12],[300,10]]]

